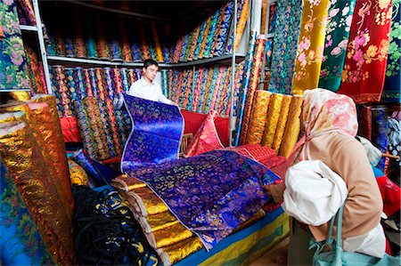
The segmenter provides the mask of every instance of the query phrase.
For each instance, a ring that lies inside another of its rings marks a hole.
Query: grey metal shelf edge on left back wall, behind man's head
[[[120,67],[143,67],[143,62],[120,62],[111,60],[93,60],[63,56],[48,56],[50,65],[62,64],[66,67],[98,67],[98,66],[120,66]],[[160,63],[160,68],[168,68],[168,64]]]

